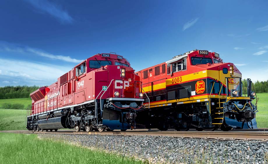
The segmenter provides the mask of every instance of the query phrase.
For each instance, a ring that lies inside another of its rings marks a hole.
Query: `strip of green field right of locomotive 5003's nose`
[[[268,93],[257,93],[258,101],[258,113],[256,113],[256,121],[258,128],[268,128]],[[255,104],[255,101],[254,101]]]

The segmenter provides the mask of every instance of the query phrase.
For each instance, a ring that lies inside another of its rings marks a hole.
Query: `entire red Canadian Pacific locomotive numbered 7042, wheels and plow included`
[[[117,54],[96,54],[57,82],[31,93],[27,129],[74,128],[98,131],[135,128],[142,110],[142,83],[128,60]]]

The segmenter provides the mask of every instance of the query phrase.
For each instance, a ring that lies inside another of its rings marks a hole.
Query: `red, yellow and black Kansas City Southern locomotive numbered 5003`
[[[136,73],[149,97],[144,97],[147,110],[138,116],[144,118],[137,119],[146,120],[148,128],[257,128],[251,80],[243,96],[241,72],[233,63],[223,63],[215,52],[189,51]]]

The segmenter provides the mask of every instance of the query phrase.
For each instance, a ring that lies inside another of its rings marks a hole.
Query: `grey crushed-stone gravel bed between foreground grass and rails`
[[[267,163],[268,142],[204,140],[167,136],[43,134],[40,138],[64,140],[150,163]]]

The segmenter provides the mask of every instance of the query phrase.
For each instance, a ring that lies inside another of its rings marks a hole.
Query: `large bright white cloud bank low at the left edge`
[[[1,76],[8,76],[10,79],[41,81],[44,84],[51,84],[57,81],[57,78],[68,72],[70,67],[62,67],[45,63],[34,63],[22,60],[7,60],[0,58]],[[14,71],[10,71],[14,70]],[[44,85],[43,84],[43,85]]]

